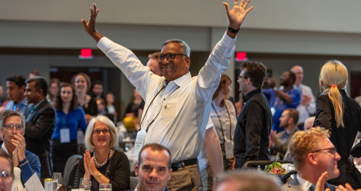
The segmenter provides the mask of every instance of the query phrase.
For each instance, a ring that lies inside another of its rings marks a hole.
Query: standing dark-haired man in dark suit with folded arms
[[[53,174],[51,148],[56,116],[54,108],[46,99],[47,92],[48,85],[43,77],[26,80],[25,95],[29,105],[25,111],[24,137],[26,149],[40,159],[41,178],[51,177]]]

